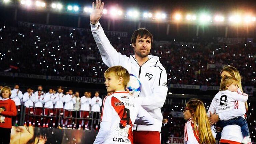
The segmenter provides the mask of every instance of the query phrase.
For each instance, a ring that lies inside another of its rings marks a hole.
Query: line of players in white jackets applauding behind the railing
[[[73,94],[71,89],[65,94],[63,92],[60,87],[57,91],[50,88],[47,93],[44,93],[42,86],[38,86],[35,93],[31,88],[27,88],[27,92],[22,94],[19,85],[15,85],[11,91],[11,99],[16,104],[18,115],[13,120],[13,124],[17,125],[20,119],[21,105],[24,103],[26,107],[25,126],[89,130],[91,125],[91,121],[88,120],[90,111],[92,118],[99,119],[100,107],[102,106],[99,92],[96,91],[93,98],[91,98],[91,92],[85,92],[81,98],[79,92]],[[94,129],[98,128],[97,124],[98,121],[94,121]]]

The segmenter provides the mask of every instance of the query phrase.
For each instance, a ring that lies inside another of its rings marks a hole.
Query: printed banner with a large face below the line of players
[[[97,132],[12,126],[10,144],[92,144]]]

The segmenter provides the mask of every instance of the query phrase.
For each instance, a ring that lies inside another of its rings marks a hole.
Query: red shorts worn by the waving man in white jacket
[[[161,144],[160,132],[133,131],[134,144]]]

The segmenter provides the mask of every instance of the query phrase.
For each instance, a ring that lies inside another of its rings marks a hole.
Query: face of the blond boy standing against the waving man
[[[106,85],[107,92],[115,92],[118,87],[119,79],[117,79],[113,73],[107,74],[105,79],[104,84]]]

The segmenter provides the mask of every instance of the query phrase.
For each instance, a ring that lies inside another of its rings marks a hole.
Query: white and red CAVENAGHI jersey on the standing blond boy
[[[110,124],[109,127],[101,125],[94,144],[133,144],[133,124],[141,118],[145,124],[154,124],[154,119],[144,110],[135,97],[126,91],[118,91],[104,99],[101,123]],[[104,135],[101,130],[106,131]]]

